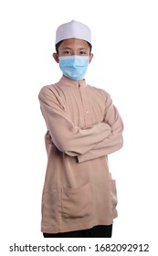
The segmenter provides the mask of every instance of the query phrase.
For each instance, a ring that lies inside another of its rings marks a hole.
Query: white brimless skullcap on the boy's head
[[[72,20],[60,25],[56,31],[56,45],[59,41],[68,38],[78,38],[91,44],[90,28],[79,21]]]

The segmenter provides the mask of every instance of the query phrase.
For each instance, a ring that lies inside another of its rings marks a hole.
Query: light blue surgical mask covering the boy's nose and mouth
[[[70,80],[83,80],[89,66],[90,56],[60,56],[59,68]]]

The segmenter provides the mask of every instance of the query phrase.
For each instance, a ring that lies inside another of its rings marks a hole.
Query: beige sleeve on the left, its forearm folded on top
[[[43,88],[38,98],[53,144],[67,155],[84,155],[111,134],[111,126],[108,123],[79,129],[71,122],[64,106],[48,88]]]

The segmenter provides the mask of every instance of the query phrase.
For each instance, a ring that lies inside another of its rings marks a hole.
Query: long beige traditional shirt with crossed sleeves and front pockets
[[[121,116],[104,90],[62,77],[39,92],[47,125],[41,231],[110,225],[117,217],[108,155],[121,149]]]

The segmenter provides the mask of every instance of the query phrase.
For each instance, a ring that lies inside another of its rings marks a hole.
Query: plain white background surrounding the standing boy
[[[37,95],[61,76],[51,56],[55,32],[72,19],[92,33],[87,82],[111,94],[124,123],[124,146],[109,157],[119,197],[111,240],[156,242],[158,6],[153,0],[0,2],[0,233],[6,246],[42,238],[46,126]]]

